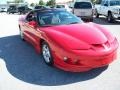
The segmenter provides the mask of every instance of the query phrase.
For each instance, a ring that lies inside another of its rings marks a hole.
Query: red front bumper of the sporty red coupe
[[[119,44],[115,39],[107,49],[64,50],[57,49],[54,55],[54,65],[64,71],[83,72],[109,65],[117,57]],[[67,60],[64,60],[67,57]]]

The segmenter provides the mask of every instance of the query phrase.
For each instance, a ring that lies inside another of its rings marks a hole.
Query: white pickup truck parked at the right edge
[[[96,17],[104,15],[108,22],[120,20],[120,0],[103,0],[100,5],[95,5]]]

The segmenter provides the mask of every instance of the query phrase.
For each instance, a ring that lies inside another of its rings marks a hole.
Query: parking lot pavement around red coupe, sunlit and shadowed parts
[[[0,90],[119,90],[120,49],[108,67],[83,73],[70,73],[47,66],[34,48],[22,41],[19,15],[0,14]],[[120,22],[95,19],[120,42]]]

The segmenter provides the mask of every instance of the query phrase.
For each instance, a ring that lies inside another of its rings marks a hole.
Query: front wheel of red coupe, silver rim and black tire
[[[46,42],[42,43],[42,56],[47,65],[53,66],[53,56],[51,54],[50,47]]]

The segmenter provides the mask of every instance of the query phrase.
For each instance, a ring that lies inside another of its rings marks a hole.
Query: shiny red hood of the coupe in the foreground
[[[48,27],[46,32],[54,41],[73,49],[90,48],[92,44],[104,44],[108,41],[106,34],[93,23]]]

